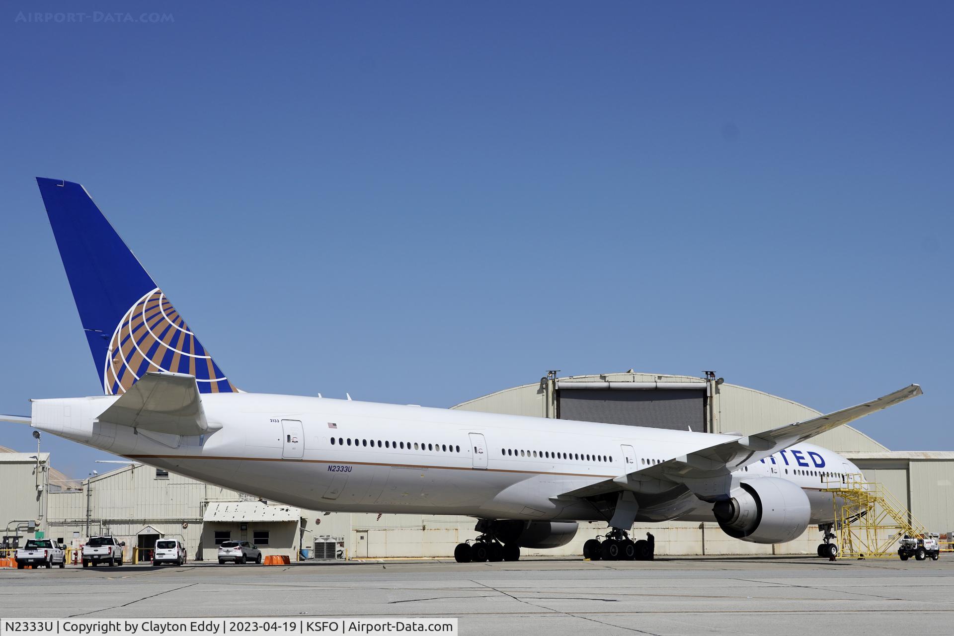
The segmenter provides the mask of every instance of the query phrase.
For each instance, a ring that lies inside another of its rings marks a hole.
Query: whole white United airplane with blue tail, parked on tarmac
[[[103,395],[31,400],[6,421],[128,460],[304,508],[463,515],[456,561],[516,561],[607,523],[591,560],[653,558],[634,523],[717,522],[743,542],[819,525],[838,552],[832,482],[861,473],[808,443],[922,394],[757,435],[675,431],[239,390],[78,183],[37,178]]]

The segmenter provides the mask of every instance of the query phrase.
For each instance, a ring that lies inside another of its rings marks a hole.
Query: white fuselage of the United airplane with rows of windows
[[[606,521],[562,493],[736,436],[351,400],[206,394],[207,435],[97,421],[115,397],[34,400],[32,426],[205,482],[305,508]],[[859,472],[801,443],[740,471],[797,483],[811,523],[832,521],[822,474]],[[637,497],[639,495],[637,494]],[[712,521],[684,489],[642,498],[637,521]]]

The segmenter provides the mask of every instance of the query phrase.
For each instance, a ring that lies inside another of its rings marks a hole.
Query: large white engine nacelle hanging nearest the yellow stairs
[[[719,527],[730,537],[753,544],[784,544],[808,527],[812,505],[796,484],[760,477],[738,486],[732,499],[713,507]]]

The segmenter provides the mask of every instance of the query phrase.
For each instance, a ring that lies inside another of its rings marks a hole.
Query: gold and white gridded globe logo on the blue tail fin
[[[136,300],[116,326],[103,388],[107,395],[125,393],[149,371],[195,376],[200,393],[238,392],[158,288]]]

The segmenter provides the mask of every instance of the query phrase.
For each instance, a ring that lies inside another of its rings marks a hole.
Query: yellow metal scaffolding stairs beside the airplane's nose
[[[839,559],[898,557],[904,537],[926,537],[927,529],[878,482],[865,482],[860,473],[832,476],[823,482],[835,505]]]

